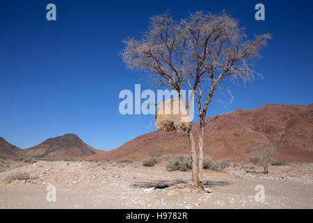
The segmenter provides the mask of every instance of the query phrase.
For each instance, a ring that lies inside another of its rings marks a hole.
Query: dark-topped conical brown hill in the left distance
[[[74,159],[97,153],[95,148],[84,143],[76,134],[47,139],[38,146],[23,150],[24,157],[51,158],[56,160]]]

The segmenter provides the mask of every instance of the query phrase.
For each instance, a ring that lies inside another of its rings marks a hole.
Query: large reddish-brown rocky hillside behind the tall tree
[[[193,128],[198,128],[198,123]],[[204,132],[204,155],[215,160],[246,161],[264,146],[275,146],[278,160],[313,162],[313,104],[237,109],[209,123]],[[112,151],[84,159],[143,160],[150,148],[163,149],[171,155],[188,154],[188,137],[184,132],[150,132]]]

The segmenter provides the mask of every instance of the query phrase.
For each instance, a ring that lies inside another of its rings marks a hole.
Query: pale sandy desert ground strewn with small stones
[[[191,190],[191,172],[164,163],[2,160],[0,208],[313,208],[313,164],[233,163],[204,171],[211,194]],[[56,201],[47,201],[47,186]],[[265,189],[256,201],[256,185]]]

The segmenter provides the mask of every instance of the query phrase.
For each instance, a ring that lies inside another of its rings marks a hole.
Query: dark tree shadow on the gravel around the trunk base
[[[154,187],[155,189],[165,189],[166,187],[172,187],[175,185],[188,185],[188,181],[186,180],[153,180],[151,182],[136,182],[131,185],[134,188],[151,188]],[[204,187],[223,187],[225,185],[230,185],[230,182],[227,181],[213,181],[207,180],[204,181]]]

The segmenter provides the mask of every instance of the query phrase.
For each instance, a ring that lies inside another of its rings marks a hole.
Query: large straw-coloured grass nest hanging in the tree
[[[158,131],[186,131],[191,128],[192,120],[184,98],[170,98],[157,104],[155,127]]]

